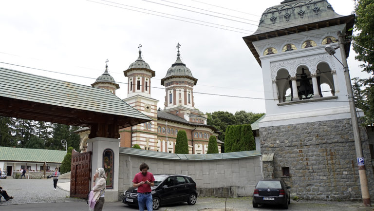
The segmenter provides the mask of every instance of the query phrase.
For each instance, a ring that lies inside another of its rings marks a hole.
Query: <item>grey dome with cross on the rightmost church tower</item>
[[[194,81],[194,85],[196,85],[197,78],[194,78],[192,76],[191,71],[186,67],[186,64],[184,64],[182,62],[180,56],[181,55],[179,53],[179,48],[178,48],[177,60],[168,69],[168,72],[166,73],[166,76],[161,79],[161,85],[164,85],[165,80],[167,80],[169,78],[173,78],[173,77],[178,77],[178,78],[184,77],[184,78],[191,79],[191,80]]]

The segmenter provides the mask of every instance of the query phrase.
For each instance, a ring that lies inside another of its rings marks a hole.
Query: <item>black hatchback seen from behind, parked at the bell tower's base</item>
[[[288,209],[291,203],[289,187],[283,180],[260,180],[253,192],[252,205],[257,208],[259,204],[279,204]]]

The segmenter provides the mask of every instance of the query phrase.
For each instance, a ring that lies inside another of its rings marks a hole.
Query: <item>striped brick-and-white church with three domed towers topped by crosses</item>
[[[220,133],[215,127],[206,124],[206,115],[195,109],[193,86],[197,78],[192,76],[180,58],[179,43],[177,59],[168,69],[161,85],[165,86],[164,109],[157,109],[159,100],[151,97],[151,78],[155,71],[142,58],[139,46],[139,57],[124,71],[128,78],[128,96],[123,99],[132,108],[149,116],[152,121],[119,130],[120,147],[139,145],[144,150],[174,153],[178,131],[187,133],[190,154],[205,154],[209,137]],[[103,75],[92,84],[93,87],[108,89],[115,94],[119,85],[108,73],[108,66]],[[80,150],[84,151],[88,140],[89,128],[79,131],[81,135]],[[221,153],[222,141],[217,139]]]

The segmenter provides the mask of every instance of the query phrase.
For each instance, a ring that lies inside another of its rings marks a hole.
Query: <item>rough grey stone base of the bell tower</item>
[[[373,165],[364,128],[360,135],[373,199]],[[362,199],[351,119],[260,128],[260,140],[262,154],[274,153],[273,162],[263,165],[264,177],[282,178],[293,196]],[[289,167],[290,176],[282,175],[282,167]]]

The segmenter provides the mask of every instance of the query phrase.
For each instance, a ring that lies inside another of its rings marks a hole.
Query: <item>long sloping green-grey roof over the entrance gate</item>
[[[108,90],[0,68],[0,115],[120,128],[151,119]]]

